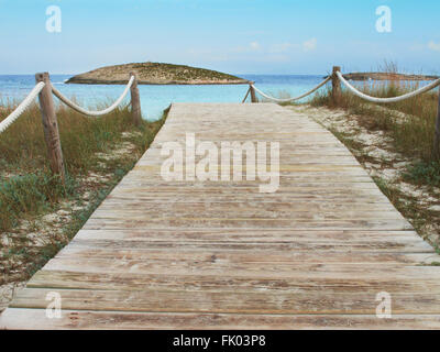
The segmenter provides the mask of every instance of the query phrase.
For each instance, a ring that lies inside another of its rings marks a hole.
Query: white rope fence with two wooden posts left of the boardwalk
[[[35,81],[36,85],[28,95],[28,97],[23,99],[23,101],[14,109],[14,111],[12,111],[4,120],[0,122],[0,134],[4,132],[12,123],[14,123],[35,101],[35,98],[38,97],[44,129],[44,139],[46,142],[51,169],[53,174],[62,177],[63,183],[65,182],[65,168],[53,96],[57,97],[66,106],[81,114],[88,117],[101,117],[116,110],[124,100],[129,91],[131,91],[131,112],[133,123],[135,125],[141,124],[142,110],[138,88],[138,76],[135,73],[130,73],[129,82],[125,86],[122,95],[110,107],[100,111],[86,110],[66,98],[52,85],[48,73],[36,74]]]

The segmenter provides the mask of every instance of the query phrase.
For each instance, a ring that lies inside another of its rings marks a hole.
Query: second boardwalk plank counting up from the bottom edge
[[[25,288],[12,301],[12,308],[47,307],[46,297],[52,288]],[[213,314],[358,314],[376,312],[377,292],[373,293],[332,293],[329,295],[317,288],[315,292],[266,290],[235,293],[198,290],[58,290],[63,309],[105,310],[105,311],[175,311],[175,312],[213,312]],[[389,293],[393,311],[405,314],[440,314],[440,293]]]

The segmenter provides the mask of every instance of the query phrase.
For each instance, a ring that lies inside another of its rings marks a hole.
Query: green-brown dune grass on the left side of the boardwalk
[[[1,117],[6,118],[13,108],[3,107]],[[99,153],[121,143],[124,132],[131,133],[133,155],[142,155],[164,122],[143,122],[138,128],[128,107],[101,118],[88,118],[61,106],[56,116],[66,165],[65,185],[50,170],[36,105],[0,135],[0,233],[16,227],[21,219],[44,213],[61,200],[74,197],[78,179],[101,168]],[[127,165],[119,165],[119,173],[132,164],[133,160],[127,160]]]

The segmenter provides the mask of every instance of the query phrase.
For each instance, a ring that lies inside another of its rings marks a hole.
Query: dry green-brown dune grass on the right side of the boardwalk
[[[364,82],[361,90],[385,98],[400,96],[417,88],[418,82],[394,80],[386,84]],[[405,177],[420,185],[439,186],[440,160],[433,153],[438,99],[438,91],[432,90],[402,102],[372,105],[343,89],[340,101],[336,103],[329,88],[317,94],[310,103],[316,107],[345,109],[360,116],[361,123],[367,130],[384,131],[393,140],[396,151],[415,161]]]

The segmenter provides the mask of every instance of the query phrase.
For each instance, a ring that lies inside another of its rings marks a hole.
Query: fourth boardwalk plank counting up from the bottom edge
[[[224,265],[219,261],[183,263],[152,263],[136,260],[106,260],[106,258],[70,258],[55,257],[45,266],[48,271],[67,271],[82,273],[132,273],[132,274],[173,274],[186,275],[191,273],[200,276],[228,275],[231,277],[258,277],[274,278],[437,278],[440,272],[435,266],[406,265],[400,263],[381,264],[353,264],[353,263],[228,263]],[[226,274],[228,273],[228,274]]]

